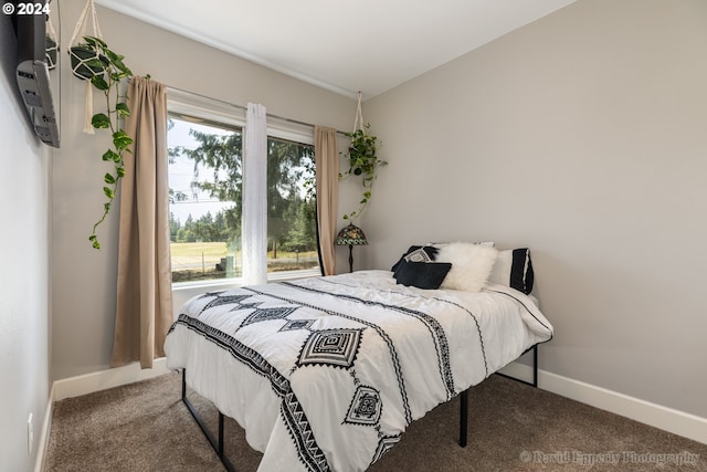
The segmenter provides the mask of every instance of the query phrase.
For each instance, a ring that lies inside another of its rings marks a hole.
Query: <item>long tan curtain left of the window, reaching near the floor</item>
[[[167,178],[167,88],[145,77],[128,86],[133,137],[120,183],[118,296],[110,366],[163,357],[172,322]]]

